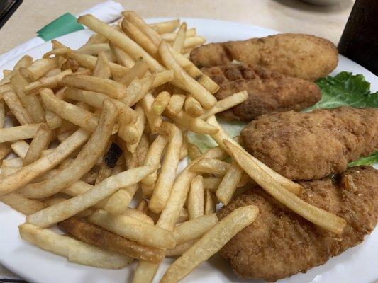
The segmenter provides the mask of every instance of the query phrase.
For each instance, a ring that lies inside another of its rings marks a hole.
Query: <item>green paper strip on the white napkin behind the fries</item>
[[[77,18],[75,16],[71,13],[65,13],[38,30],[37,34],[43,40],[48,41],[82,29],[84,29],[84,27],[77,23]]]

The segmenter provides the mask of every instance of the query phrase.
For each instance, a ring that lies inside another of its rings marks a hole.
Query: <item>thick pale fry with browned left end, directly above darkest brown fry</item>
[[[119,236],[144,245],[155,248],[173,248],[176,245],[172,232],[133,217],[97,210],[88,220]]]

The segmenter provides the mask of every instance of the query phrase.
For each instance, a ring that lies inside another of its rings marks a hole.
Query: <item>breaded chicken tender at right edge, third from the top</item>
[[[292,180],[321,179],[378,149],[378,108],[278,112],[250,122],[245,149]]]

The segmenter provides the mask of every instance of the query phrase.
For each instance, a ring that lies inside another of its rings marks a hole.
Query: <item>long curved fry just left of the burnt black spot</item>
[[[115,122],[116,106],[105,100],[98,126],[70,166],[42,183],[26,185],[21,192],[31,198],[49,197],[82,178],[106,150]]]

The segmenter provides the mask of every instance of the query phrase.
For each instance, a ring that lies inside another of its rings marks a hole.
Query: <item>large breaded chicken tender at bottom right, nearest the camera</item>
[[[218,212],[225,217],[237,207],[256,205],[257,219],[221,250],[239,277],[269,282],[294,275],[361,243],[378,219],[378,171],[355,167],[338,176],[301,182],[301,199],[347,221],[338,236],[289,211],[260,187],[248,190]]]

